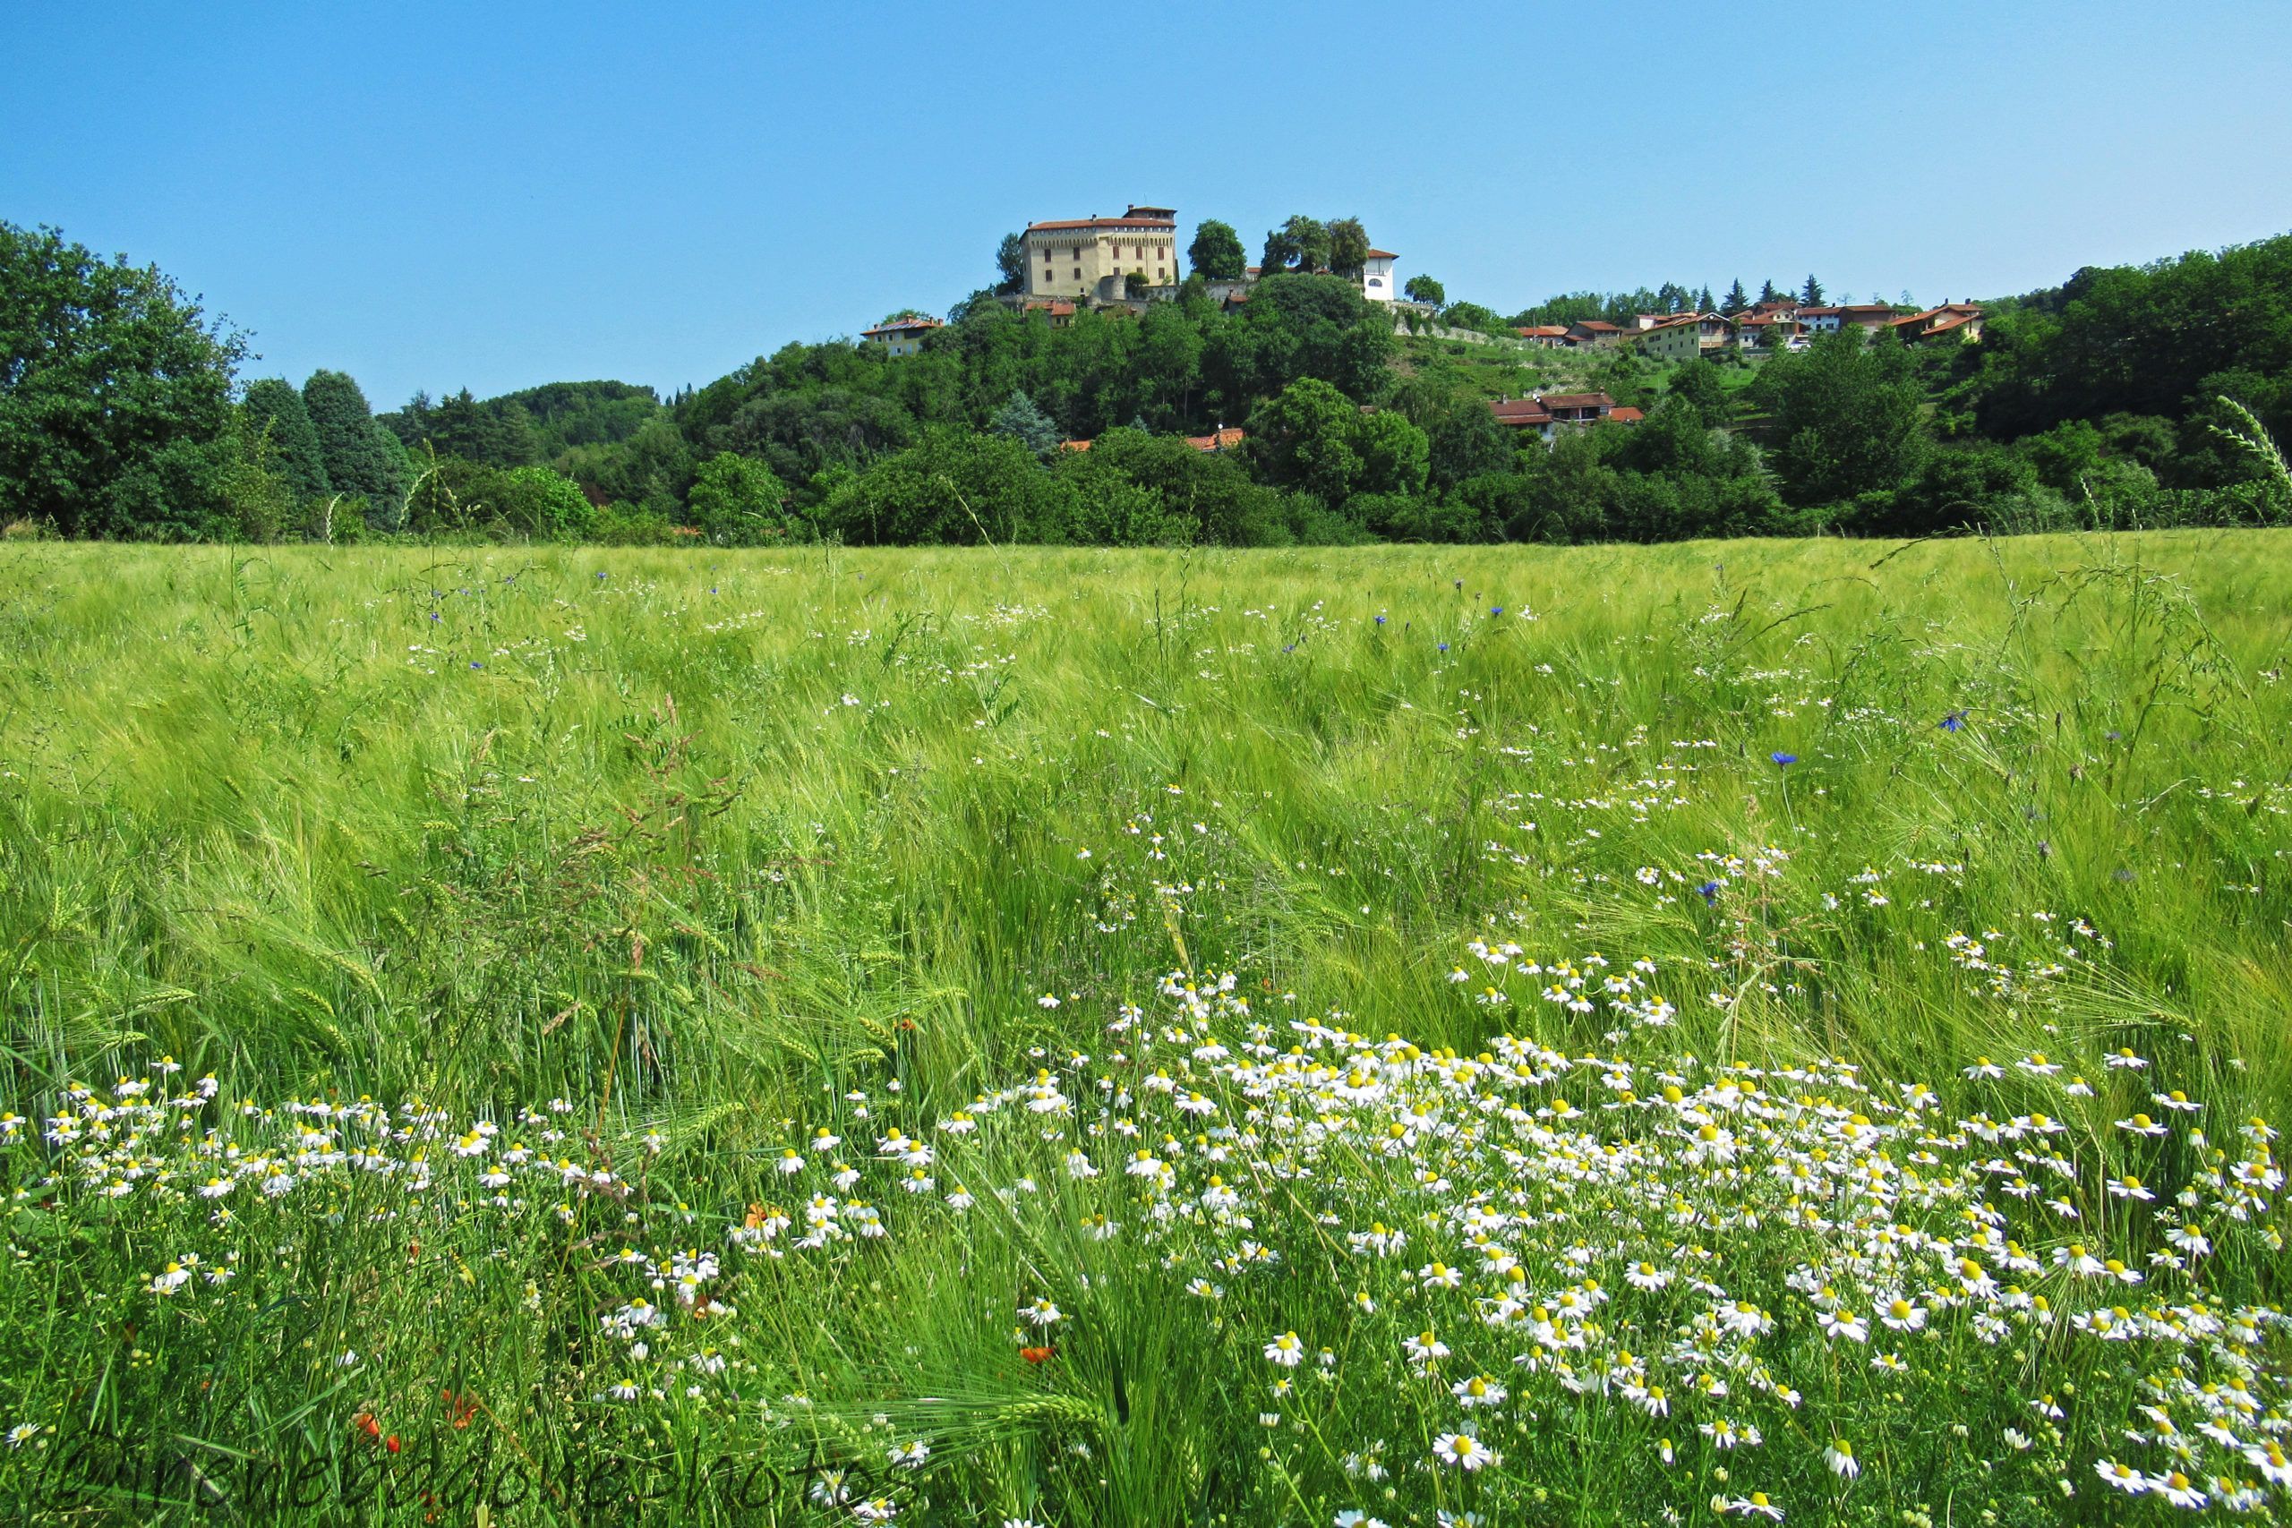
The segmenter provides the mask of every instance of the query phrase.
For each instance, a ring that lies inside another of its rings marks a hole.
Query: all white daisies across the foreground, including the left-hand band
[[[1022,1375],[1061,1384],[1059,1354],[1109,1297],[1167,1301],[1258,1391],[1267,1478],[1355,1521],[1517,1510],[1545,1489],[1522,1459],[1554,1427],[1625,1450],[1648,1512],[1912,1501],[1953,1457],[2054,1498],[2292,1503],[2267,1120],[2212,1118],[2132,1047],[2079,1070],[1973,1058],[1934,1081],[1682,1054],[1653,960],[1474,939],[1465,964],[1483,1008],[1540,1015],[1515,1029],[1545,1038],[1458,1054],[1171,974],[1153,1013],[1114,1015],[1105,1056],[1045,1056],[935,1118],[894,1095],[809,1125],[766,1168],[772,1203],[678,1205],[701,1246],[580,1242],[610,1354],[587,1402],[729,1407],[754,1372],[727,1354],[749,1326],[743,1278],[839,1283],[841,1265],[1059,1232],[1096,1249],[1096,1271],[1036,1262],[1027,1287],[979,1290]],[[151,1301],[241,1276],[229,1230],[257,1210],[571,1228],[660,1203],[649,1166],[614,1164],[651,1164],[662,1136],[607,1150],[566,1100],[502,1120],[266,1109],[151,1070],[0,1116],[18,1205],[181,1228],[142,1281]],[[866,1310],[827,1320],[866,1340]],[[917,1436],[885,1448],[921,1471],[928,1397],[903,1416]]]

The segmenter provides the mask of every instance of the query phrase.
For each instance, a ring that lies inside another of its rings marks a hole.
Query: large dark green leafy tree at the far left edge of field
[[[243,355],[156,266],[0,222],[0,513],[66,536],[222,534]]]

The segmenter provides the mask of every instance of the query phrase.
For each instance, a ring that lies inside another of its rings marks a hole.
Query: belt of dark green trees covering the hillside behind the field
[[[1400,353],[1391,312],[1322,275],[1355,245],[1357,220],[1290,218],[1267,231],[1249,302],[1224,305],[1206,277],[1242,245],[1203,222],[1178,300],[1144,314],[1054,325],[983,289],[917,355],[788,344],[669,396],[550,383],[376,415],[339,371],[241,383],[245,339],[156,268],[0,225],[0,522],[179,541],[1288,545],[2292,509],[2264,449],[2292,426],[2292,236],[2079,270],[1992,302],[1980,344],[1847,330],[1756,376],[1618,357],[1602,385],[1643,422],[1552,444]],[[1595,300],[1627,318],[1710,293],[1579,293],[1520,316]],[[1751,298],[1737,282],[1726,300]],[[1190,444],[1219,426],[1247,440]]]

